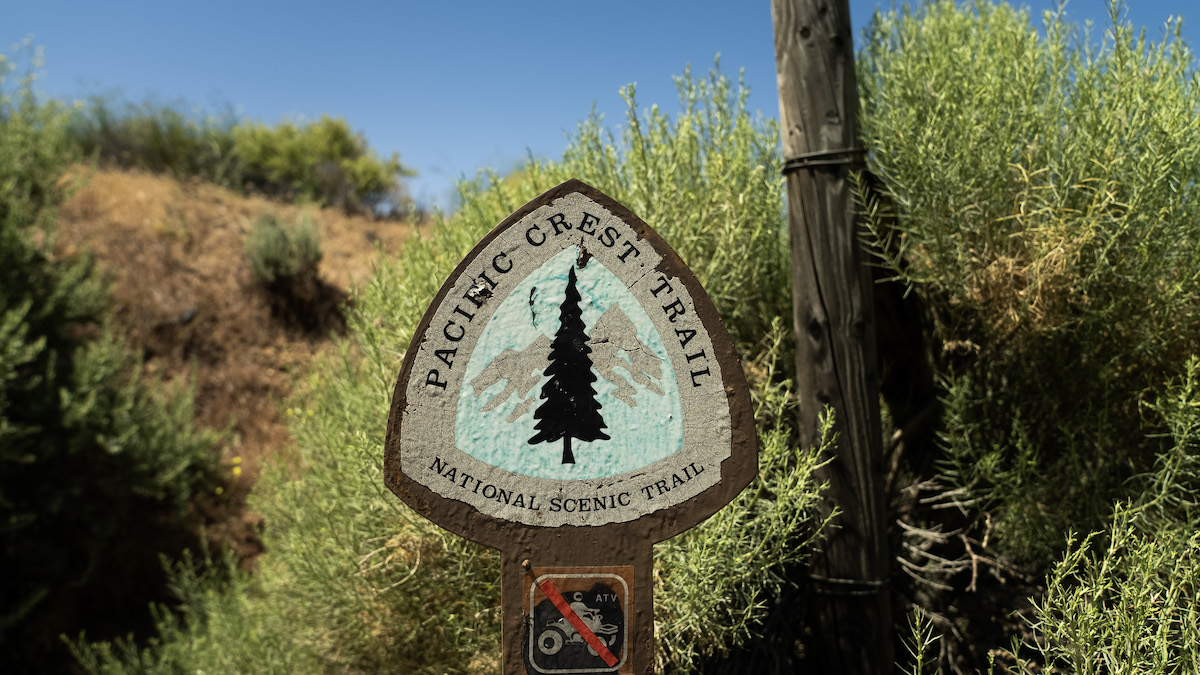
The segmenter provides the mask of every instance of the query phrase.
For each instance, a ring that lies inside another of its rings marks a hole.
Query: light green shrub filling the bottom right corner
[[[1174,447],[1102,532],[1068,540],[1031,621],[1039,640],[1027,649],[1039,658],[1022,673],[1200,669],[1200,360],[1156,411]]]

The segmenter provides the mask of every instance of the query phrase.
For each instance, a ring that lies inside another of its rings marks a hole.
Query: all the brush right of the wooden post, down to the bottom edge
[[[1200,72],[1177,26],[1110,11],[1102,37],[932,2],[859,60],[866,223],[941,402],[898,496],[942,668],[982,668],[972,616],[1019,609],[1021,671],[1200,665]]]

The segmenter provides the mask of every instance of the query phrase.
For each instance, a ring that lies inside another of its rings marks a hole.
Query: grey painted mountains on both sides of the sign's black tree
[[[637,388],[634,384],[641,384],[659,396],[664,394],[662,359],[637,339],[637,328],[620,305],[611,305],[596,321],[587,345],[592,350],[592,370],[617,387],[612,393],[614,399],[636,407]],[[550,351],[551,339],[541,335],[521,351],[500,352],[470,381],[476,398],[497,382],[505,382],[504,389],[490,398],[480,410],[494,410],[516,396],[520,402],[505,422],[511,424],[521,419],[536,401],[535,389],[550,360]]]

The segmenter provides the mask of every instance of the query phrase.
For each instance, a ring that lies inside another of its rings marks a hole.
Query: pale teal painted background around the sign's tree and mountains
[[[545,336],[542,344],[548,353],[548,340],[552,340],[558,330],[559,306],[565,298],[568,270],[575,264],[578,252],[577,246],[571,246],[542,263],[504,299],[480,334],[458,396],[455,440],[462,452],[514,473],[572,480],[634,471],[664,459],[682,447],[679,390],[662,340],[649,316],[624,283],[595,258],[592,258],[583,269],[576,268],[576,288],[582,297],[580,307],[588,335],[594,339],[593,331],[601,315],[612,305],[619,305],[620,311],[636,328],[641,347],[658,357],[660,377],[652,380],[649,386],[644,382],[634,382],[626,371],[626,368],[637,370],[630,359],[630,353],[624,351],[617,353],[614,363],[624,366],[613,372],[628,381],[624,392],[600,376],[593,384],[596,400],[601,405],[600,414],[607,425],[605,432],[612,438],[593,442],[572,438],[571,449],[576,461],[574,465],[562,464],[562,441],[528,443],[528,440],[536,434],[533,413],[542,402],[541,386],[546,377],[541,370],[550,364],[545,356],[524,360],[527,365],[539,364],[527,369],[528,372],[524,374],[527,380],[538,378],[524,399],[510,392],[508,398],[492,410],[482,410],[494,396],[504,394],[514,377],[502,378],[478,395],[472,382],[505,350],[522,352],[539,338]],[[622,324],[628,327],[625,323]],[[626,344],[629,338],[628,335],[624,338]],[[533,354],[533,351],[528,353]],[[508,354],[508,357],[514,356]],[[592,357],[595,358],[596,352],[593,352]],[[641,360],[644,363],[653,359],[642,357]],[[512,359],[502,362],[512,363]],[[508,375],[516,376],[517,372],[510,370]],[[652,386],[656,386],[661,394],[652,390]],[[625,402],[630,398],[636,405],[629,406]],[[528,399],[533,399],[532,404]],[[515,422],[508,422],[510,414],[523,405],[528,406],[528,410]]]

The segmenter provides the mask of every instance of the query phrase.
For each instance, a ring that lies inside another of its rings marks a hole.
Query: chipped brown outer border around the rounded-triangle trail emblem
[[[708,331],[716,362],[721,368],[722,386],[730,401],[731,452],[730,456],[721,462],[721,477],[716,485],[713,485],[686,502],[648,513],[626,522],[610,522],[599,526],[563,525],[558,527],[540,527],[485,515],[470,504],[443,497],[406,476],[400,461],[400,430],[403,423],[402,412],[406,406],[406,393],[409,377],[412,376],[414,356],[425,340],[425,334],[434,311],[442,305],[458,277],[467,273],[468,265],[500,233],[516,225],[522,217],[535,209],[548,205],[556,199],[575,192],[608,209],[614,216],[629,225],[637,233],[640,240],[653,246],[662,256],[662,262],[658,265],[656,271],[683,281],[695,301],[696,313]],[[619,537],[622,539],[632,538],[652,543],[661,542],[696,526],[716,513],[718,509],[732,501],[754,479],[757,470],[758,450],[754,411],[745,375],[742,370],[742,362],[708,293],[704,292],[700,281],[696,280],[696,276],[679,258],[679,255],[650,226],[616,199],[577,179],[570,179],[547,190],[504,219],[504,221],[492,228],[472,249],[442,285],[438,294],[430,303],[425,316],[421,317],[421,322],[418,324],[416,330],[413,333],[413,339],[408,345],[408,351],[404,353],[404,364],[396,378],[396,387],[392,394],[391,412],[388,418],[388,436],[384,446],[384,484],[396,496],[445,530],[494,549],[511,548],[514,543],[527,539],[529,536],[528,531],[530,530],[554,531],[568,537],[583,536],[582,538],[592,538],[598,533],[595,531],[602,530],[606,538]]]

